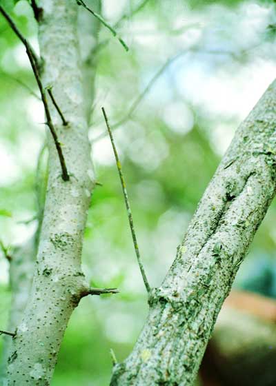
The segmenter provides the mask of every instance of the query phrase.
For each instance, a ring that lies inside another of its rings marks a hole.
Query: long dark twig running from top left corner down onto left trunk
[[[46,119],[47,119],[46,124],[48,125],[48,128],[50,129],[50,132],[52,134],[52,138],[53,138],[53,140],[55,142],[55,147],[57,148],[57,154],[59,156],[59,161],[61,163],[62,179],[63,179],[63,181],[69,181],[70,177],[69,177],[68,170],[67,170],[67,167],[66,167],[66,162],[65,162],[65,159],[64,159],[64,156],[63,156],[63,152],[61,150],[61,144],[59,143],[59,139],[58,139],[57,133],[55,131],[55,127],[54,127],[54,125],[52,123],[52,119],[51,119],[51,116],[50,116],[50,110],[48,108],[48,102],[47,102],[47,98],[46,98],[46,92],[45,92],[45,90],[43,88],[41,79],[39,77],[39,70],[38,70],[38,67],[37,67],[37,62],[34,59],[33,50],[31,48],[30,43],[28,42],[28,40],[25,37],[23,37],[21,32],[19,32],[19,30],[18,30],[17,26],[15,25],[14,21],[12,21],[12,19],[7,14],[7,12],[3,9],[2,6],[0,6],[0,12],[1,12],[1,14],[3,14],[3,17],[5,17],[5,19],[10,24],[10,27],[12,28],[12,30],[17,34],[19,39],[22,41],[23,45],[25,45],[25,47],[26,47],[26,52],[28,54],[28,58],[30,59],[30,65],[32,66],[32,71],[34,72],[34,77],[35,77],[35,79],[37,81],[37,85],[39,86],[39,91],[40,91],[40,94],[41,94],[41,100],[42,100],[42,103],[43,103],[43,106],[44,106],[44,110],[45,110],[45,114],[46,114]]]

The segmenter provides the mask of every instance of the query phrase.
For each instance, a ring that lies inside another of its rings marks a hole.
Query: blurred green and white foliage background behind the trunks
[[[275,1],[101,3],[103,17],[116,26],[130,50],[101,28],[89,136],[97,180],[103,186],[92,196],[83,270],[92,285],[119,287],[121,292],[81,301],[66,331],[53,386],[108,385],[110,348],[117,360],[126,358],[148,309],[101,106],[115,130],[146,272],[150,284],[157,286],[237,126],[276,74]],[[38,51],[37,24],[28,1],[19,1],[12,15]],[[23,45],[0,18],[0,241],[11,253],[37,227],[37,191],[46,174],[46,151],[37,167],[45,127],[43,105],[35,93]],[[237,290],[265,296],[256,295],[266,310],[273,309],[276,298],[275,215],[273,202],[235,281]],[[4,329],[10,289],[3,254],[0,292]],[[232,303],[235,309],[241,308],[239,294]],[[246,305],[251,298],[256,301],[248,296]],[[249,314],[261,303],[253,303]],[[264,321],[269,342],[264,352],[273,349],[275,363],[275,338],[269,338],[270,333],[276,336],[274,312],[267,316],[264,311],[256,323]],[[249,323],[243,317],[242,329]],[[231,320],[238,319],[235,315]],[[212,382],[204,385],[228,384]],[[270,384],[275,383],[260,383]],[[257,383],[251,378],[250,385]]]

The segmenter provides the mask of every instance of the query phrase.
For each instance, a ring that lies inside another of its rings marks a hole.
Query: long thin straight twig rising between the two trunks
[[[130,209],[130,203],[128,201],[128,192],[126,190],[126,182],[124,180],[124,175],[123,175],[123,172],[121,170],[121,163],[119,161],[119,156],[118,156],[117,149],[116,149],[116,146],[115,146],[115,141],[113,139],[113,135],[112,135],[112,132],[111,132],[111,129],[110,129],[110,125],[108,123],[108,117],[106,116],[106,111],[104,110],[104,108],[101,108],[101,110],[103,112],[103,116],[104,116],[104,119],[106,121],[106,127],[108,129],[108,134],[110,136],[110,141],[111,141],[111,144],[112,144],[113,152],[114,152],[116,163],[117,163],[117,169],[118,169],[118,173],[119,173],[119,177],[120,177],[120,181],[121,181],[121,188],[122,188],[123,194],[124,194],[124,201],[125,201],[125,204],[126,204],[126,210],[128,212],[128,221],[129,221],[129,224],[130,224],[130,231],[131,231],[131,234],[132,234],[132,240],[133,240],[133,244],[134,244],[134,247],[135,247],[135,253],[136,253],[136,256],[137,256],[138,265],[139,265],[139,268],[140,268],[140,271],[141,271],[141,275],[142,275],[142,278],[143,278],[146,290],[147,290],[148,293],[150,293],[150,285],[148,284],[148,279],[146,277],[146,272],[145,272],[144,266],[143,266],[143,264],[141,262],[139,247],[138,247],[138,244],[137,244],[137,238],[136,238],[134,224],[133,224],[132,212],[131,212],[131,209]]]

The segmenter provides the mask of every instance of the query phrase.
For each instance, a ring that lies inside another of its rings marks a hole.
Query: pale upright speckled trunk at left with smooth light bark
[[[75,1],[42,0],[39,45],[43,84],[52,85],[69,125],[51,106],[70,181],[48,136],[49,178],[37,266],[23,320],[8,358],[7,385],[50,385],[66,325],[88,285],[81,271],[83,229],[94,185],[83,101]],[[50,104],[50,101],[49,101]]]

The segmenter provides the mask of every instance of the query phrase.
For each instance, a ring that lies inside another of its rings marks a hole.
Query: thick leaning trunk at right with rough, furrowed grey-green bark
[[[276,81],[210,181],[132,353],[111,385],[193,385],[217,314],[275,195]]]

